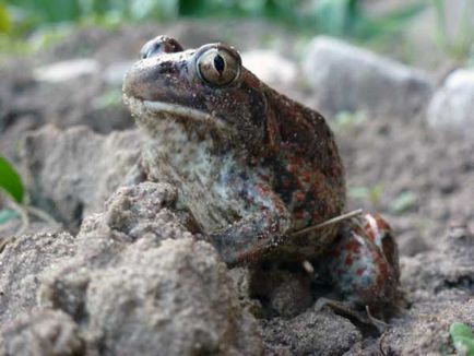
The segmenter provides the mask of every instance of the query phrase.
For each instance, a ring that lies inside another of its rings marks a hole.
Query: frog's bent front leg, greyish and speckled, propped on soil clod
[[[292,224],[289,211],[271,187],[256,185],[240,192],[251,205],[251,212],[210,234],[211,242],[229,265],[257,260],[280,242]]]

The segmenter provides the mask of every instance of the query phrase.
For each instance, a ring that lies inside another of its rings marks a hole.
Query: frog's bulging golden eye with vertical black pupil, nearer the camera
[[[223,48],[211,48],[199,56],[198,73],[212,85],[228,85],[240,73],[240,58]]]

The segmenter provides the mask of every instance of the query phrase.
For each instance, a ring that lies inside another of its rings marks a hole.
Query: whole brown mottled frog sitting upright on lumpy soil
[[[396,244],[388,223],[365,214],[325,224],[346,204],[330,126],[260,81],[234,47],[185,49],[157,36],[142,47],[122,92],[146,137],[143,179],[176,187],[177,209],[228,266],[317,261],[355,304],[395,297]]]

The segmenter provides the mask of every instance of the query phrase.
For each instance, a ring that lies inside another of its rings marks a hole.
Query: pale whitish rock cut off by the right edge
[[[434,128],[474,132],[474,70],[451,73],[434,95],[426,118]]]

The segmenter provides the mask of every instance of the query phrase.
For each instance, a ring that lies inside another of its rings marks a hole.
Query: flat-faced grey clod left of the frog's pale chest
[[[22,176],[35,205],[76,228],[126,183],[139,161],[140,144],[134,130],[104,137],[85,127],[62,131],[46,126],[24,140]]]

